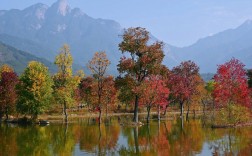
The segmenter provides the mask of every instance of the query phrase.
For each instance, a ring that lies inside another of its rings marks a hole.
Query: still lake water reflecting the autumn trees
[[[0,125],[0,156],[47,155],[252,155],[252,127],[211,129],[201,120],[151,121],[130,127],[112,118],[48,126]]]

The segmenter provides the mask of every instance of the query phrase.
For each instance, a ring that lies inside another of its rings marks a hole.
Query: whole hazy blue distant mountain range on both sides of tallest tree
[[[0,11],[1,42],[51,62],[67,43],[74,62],[82,66],[96,51],[106,51],[111,61],[110,73],[116,73],[121,57],[118,43],[122,33],[123,28],[116,21],[94,19],[78,8],[71,9],[67,0],[58,0],[52,6],[35,4],[24,10]],[[217,64],[236,57],[252,68],[251,39],[252,22],[246,21],[236,29],[200,39],[188,47],[166,44],[164,64],[171,68],[190,59],[202,73],[214,73]],[[152,36],[152,40],[157,39]]]

